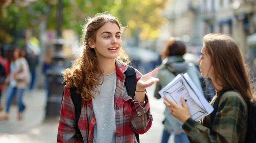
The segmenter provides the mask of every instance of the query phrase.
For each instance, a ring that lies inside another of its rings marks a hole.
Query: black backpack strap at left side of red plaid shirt
[[[80,118],[80,115],[81,115],[82,97],[81,97],[81,94],[76,93],[76,90],[77,90],[76,88],[71,88],[70,89],[70,96],[71,96],[71,99],[73,101],[73,104],[74,104],[74,107],[75,107],[75,112],[76,112],[76,126],[75,126],[76,134],[81,134],[81,132],[79,130],[79,127],[78,127],[78,121],[79,121],[79,118]],[[63,94],[62,94],[62,101],[63,101],[63,96],[64,96],[64,91],[63,91]]]

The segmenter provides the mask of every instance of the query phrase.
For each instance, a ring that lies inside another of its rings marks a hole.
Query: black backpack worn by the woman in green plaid
[[[218,105],[221,98],[221,95],[227,91],[234,91],[234,89],[226,90],[217,97],[213,103],[213,112],[210,115],[211,123],[215,119],[216,113],[218,112]],[[245,143],[255,143],[256,140],[256,103],[253,101],[245,100],[248,108],[248,118],[247,118],[247,134]]]

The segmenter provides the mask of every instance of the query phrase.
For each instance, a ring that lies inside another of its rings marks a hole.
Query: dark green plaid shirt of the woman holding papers
[[[211,124],[209,116],[204,118],[203,125]],[[239,93],[225,92],[219,101],[218,112],[211,125],[212,131],[203,125],[191,118],[183,124],[182,129],[191,143],[244,143],[247,133],[247,104]]]

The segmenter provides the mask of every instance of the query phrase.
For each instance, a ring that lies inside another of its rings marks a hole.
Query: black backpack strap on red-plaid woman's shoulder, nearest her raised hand
[[[137,86],[137,77],[135,69],[132,66],[128,66],[128,69],[124,72],[125,74],[125,86],[127,94],[134,99],[136,86]],[[131,102],[131,108],[134,106],[134,102]],[[140,143],[140,137],[137,132],[134,132],[137,142]]]

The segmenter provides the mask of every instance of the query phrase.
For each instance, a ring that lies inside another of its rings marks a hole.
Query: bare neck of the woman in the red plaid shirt
[[[102,59],[99,60],[99,67],[100,69],[102,69],[103,74],[111,74],[112,72],[114,72],[116,70],[116,63],[115,63],[115,59]]]

